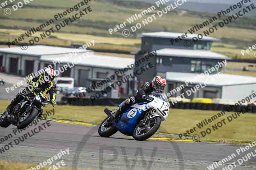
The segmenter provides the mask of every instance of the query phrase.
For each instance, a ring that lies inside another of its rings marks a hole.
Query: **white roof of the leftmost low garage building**
[[[11,54],[18,54],[18,55],[41,56],[41,55],[53,55],[53,54],[68,54],[68,53],[72,53],[75,49],[76,48],[35,45],[35,46],[28,46],[26,50],[22,50],[20,47],[0,48],[0,53],[2,52],[2,53],[11,53]],[[84,51],[88,51],[88,50],[84,50]]]

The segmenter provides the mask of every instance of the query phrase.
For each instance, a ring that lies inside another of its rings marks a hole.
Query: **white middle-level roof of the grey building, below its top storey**
[[[192,49],[177,49],[177,48],[164,48],[156,50],[158,56],[176,56],[176,57],[189,57],[189,58],[206,58],[206,59],[224,59],[230,60],[231,58],[226,55],[214,53],[209,50],[192,50]]]

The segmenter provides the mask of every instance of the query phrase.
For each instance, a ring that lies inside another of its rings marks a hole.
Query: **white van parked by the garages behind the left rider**
[[[62,91],[60,89],[73,89],[74,88],[74,82],[75,79],[74,78],[70,78],[70,77],[58,77],[55,78],[54,80],[56,82],[56,87],[57,87],[57,91]],[[57,94],[59,94],[59,92],[56,92]]]

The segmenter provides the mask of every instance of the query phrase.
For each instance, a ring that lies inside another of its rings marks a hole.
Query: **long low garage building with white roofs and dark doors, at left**
[[[75,86],[90,87],[115,75],[111,82],[107,82],[97,90],[103,90],[114,81],[121,81],[125,75],[132,74],[133,69],[126,72],[127,65],[134,63],[133,58],[122,58],[116,56],[94,55],[92,50],[62,48],[51,46],[28,46],[27,50],[20,47],[0,48],[2,61],[0,64],[5,72],[20,76],[28,76],[36,73],[45,67],[53,68],[59,74],[59,77],[72,77],[75,79]],[[65,69],[66,67],[66,69]],[[122,74],[121,74],[122,73]],[[33,75],[32,75],[33,76]],[[132,94],[133,79],[129,78],[127,82],[122,83],[124,94]],[[118,90],[118,86],[115,86]]]

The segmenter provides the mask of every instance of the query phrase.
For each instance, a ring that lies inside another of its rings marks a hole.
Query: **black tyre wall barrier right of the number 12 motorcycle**
[[[216,104],[216,103],[192,103],[192,102],[170,102],[170,107],[174,109],[198,109],[198,110],[218,110],[225,112],[246,112],[246,113],[256,113],[255,105],[247,105],[247,106],[235,106],[235,105],[224,105],[224,104]]]

